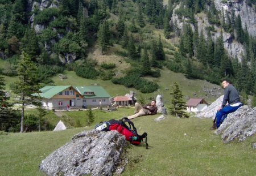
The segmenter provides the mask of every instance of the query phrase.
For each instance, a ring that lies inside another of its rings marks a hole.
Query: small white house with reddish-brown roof
[[[189,112],[201,112],[204,111],[208,103],[203,98],[190,98],[187,103],[187,111]]]

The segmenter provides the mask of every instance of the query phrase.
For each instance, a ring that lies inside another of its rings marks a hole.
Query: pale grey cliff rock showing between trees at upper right
[[[247,29],[252,36],[256,36],[256,13],[255,8],[246,5],[246,1],[221,1],[221,0],[214,0],[216,9],[218,11],[222,11],[222,8],[227,11],[229,14],[232,13],[234,10],[235,15],[237,16],[240,14],[242,20],[242,26],[245,28],[247,25]],[[180,6],[176,6],[174,9],[174,13],[172,14],[172,23],[174,24],[174,28],[176,33],[182,31],[182,28],[188,19],[181,18],[179,19],[178,16],[175,14],[175,10]],[[199,32],[203,31],[204,37],[207,38],[207,31],[205,30],[206,27],[210,27],[211,25],[208,23],[208,18],[204,14],[197,14],[195,19],[198,22]],[[195,31],[195,27],[191,24],[193,31]],[[212,32],[212,37],[216,40],[221,35],[221,28],[214,26],[214,29],[217,32]],[[241,60],[242,55],[245,54],[245,48],[239,42],[233,40],[233,37],[230,33],[224,32],[223,33],[223,42],[224,47],[228,51],[230,57],[238,57]]]

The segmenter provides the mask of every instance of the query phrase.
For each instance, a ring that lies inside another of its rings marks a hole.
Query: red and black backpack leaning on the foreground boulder
[[[126,123],[128,123],[129,126],[127,126]],[[117,130],[133,145],[141,144],[141,141],[143,141],[143,138],[145,138],[146,149],[148,149],[147,133],[144,132],[142,135],[138,135],[137,129],[135,128],[133,122],[131,122],[127,117],[120,120],[111,119],[107,122],[101,122],[99,125],[95,126],[95,129],[101,131]]]

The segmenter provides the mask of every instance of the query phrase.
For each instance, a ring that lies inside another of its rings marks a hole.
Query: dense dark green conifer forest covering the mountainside
[[[169,0],[166,5],[162,0],[54,0],[45,1],[46,7],[40,3],[0,0],[0,58],[8,62],[0,70],[2,75],[20,76],[20,55],[25,55],[36,65],[40,85],[52,84],[51,76],[67,69],[82,78],[111,80],[150,93],[159,85],[143,77],[157,78],[160,69],[167,67],[189,79],[216,84],[228,78],[244,102],[247,95],[255,102],[256,38],[242,27],[240,15],[218,11],[213,0]],[[249,6],[254,3],[247,1]],[[207,37],[197,28],[195,15],[200,13],[207,15],[210,24],[204,29]],[[177,29],[173,14],[186,19],[182,30]],[[222,29],[217,40],[212,37],[214,26]],[[165,40],[154,31],[163,33]],[[222,32],[244,46],[240,61],[226,52]],[[179,44],[166,42],[173,38],[179,38]],[[120,46],[114,54],[131,65],[123,77],[115,75],[113,63],[98,65],[88,58],[90,49],[99,46],[102,54],[108,54],[113,45]]]

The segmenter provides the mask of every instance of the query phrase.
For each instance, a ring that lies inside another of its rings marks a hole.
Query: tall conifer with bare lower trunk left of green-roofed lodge
[[[24,108],[27,105],[37,105],[41,103],[38,101],[39,97],[36,93],[39,93],[39,82],[36,65],[31,61],[31,58],[24,51],[20,55],[20,61],[18,63],[18,77],[19,80],[14,83],[14,93],[20,96],[20,100],[16,103],[22,105],[22,115],[20,120],[20,132],[24,130]]]

